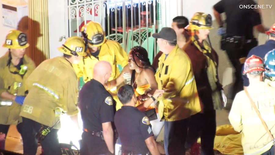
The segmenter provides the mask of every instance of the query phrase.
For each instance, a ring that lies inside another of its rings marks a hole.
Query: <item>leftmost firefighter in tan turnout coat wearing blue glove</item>
[[[21,133],[19,113],[28,93],[25,81],[35,69],[34,62],[25,55],[28,46],[26,35],[18,30],[10,31],[3,44],[9,48],[9,52],[0,58],[0,132],[5,135],[10,125],[17,125]]]

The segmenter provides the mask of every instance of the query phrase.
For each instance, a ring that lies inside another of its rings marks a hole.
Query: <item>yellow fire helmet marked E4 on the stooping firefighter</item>
[[[86,44],[85,41],[79,36],[69,37],[62,46],[57,48],[58,51],[74,56],[85,56]]]

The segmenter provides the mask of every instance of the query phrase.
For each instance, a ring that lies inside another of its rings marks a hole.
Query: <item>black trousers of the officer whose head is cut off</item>
[[[242,67],[243,64],[240,63],[241,57],[247,57],[249,51],[257,46],[257,42],[255,43],[247,43],[243,48],[236,47],[234,43],[226,44],[226,54],[232,63],[232,66],[235,69],[235,82],[232,90],[232,99],[235,98],[235,95],[243,90],[243,79],[242,79]]]

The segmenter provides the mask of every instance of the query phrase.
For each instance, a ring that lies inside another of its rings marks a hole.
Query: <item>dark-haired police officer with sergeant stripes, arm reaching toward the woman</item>
[[[155,101],[164,91],[156,92],[145,102]],[[135,107],[137,97],[131,85],[123,85],[117,94],[122,108],[116,112],[115,125],[125,155],[159,155],[149,118]]]

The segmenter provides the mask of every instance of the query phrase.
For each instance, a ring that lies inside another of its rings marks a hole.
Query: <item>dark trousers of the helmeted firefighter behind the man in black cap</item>
[[[216,111],[208,110],[189,118],[188,134],[185,147],[190,148],[200,137],[201,154],[214,155],[214,139],[216,134]]]

